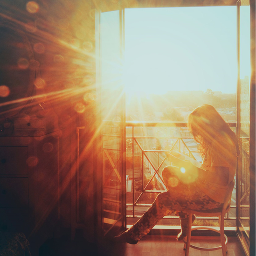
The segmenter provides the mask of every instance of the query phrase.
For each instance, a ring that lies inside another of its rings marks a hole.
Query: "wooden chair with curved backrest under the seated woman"
[[[186,249],[185,252],[185,256],[188,256],[189,253],[189,248],[192,247],[194,249],[198,249],[198,250],[217,250],[217,249],[222,249],[222,256],[226,256],[228,250],[227,250],[227,243],[228,243],[228,237],[224,234],[224,217],[225,214],[229,211],[230,208],[230,204],[231,204],[231,196],[232,196],[232,191],[234,188],[235,182],[232,180],[229,184],[228,187],[228,191],[227,194],[225,196],[225,200],[224,200],[224,204],[222,209],[220,209],[220,211],[215,212],[214,210],[212,212],[200,212],[200,211],[194,211],[194,210],[190,210],[189,213],[189,219],[188,219],[188,223],[190,223],[188,225],[188,230],[187,230],[187,241],[184,239],[183,241],[185,242],[184,244],[184,249]],[[220,225],[220,231],[216,230],[214,228],[208,228],[208,227],[197,227],[197,228],[192,228],[192,215],[195,214],[197,216],[203,216],[203,217],[219,217],[219,225]],[[208,230],[212,230],[215,232],[218,232],[221,234],[221,246],[218,247],[210,247],[210,248],[205,248],[205,247],[198,247],[195,245],[190,244],[190,240],[191,240],[191,231],[192,230],[196,230],[196,229],[208,229]]]

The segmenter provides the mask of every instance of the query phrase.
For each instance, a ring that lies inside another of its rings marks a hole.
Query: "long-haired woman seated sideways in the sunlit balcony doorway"
[[[186,210],[207,212],[222,207],[228,185],[235,176],[238,139],[211,105],[192,111],[187,125],[200,144],[201,168],[170,155],[174,166],[166,166],[162,171],[168,191],[160,193],[131,228],[115,237],[115,242],[136,244],[160,219],[173,212],[180,216],[181,232],[177,240],[181,240],[187,235]]]

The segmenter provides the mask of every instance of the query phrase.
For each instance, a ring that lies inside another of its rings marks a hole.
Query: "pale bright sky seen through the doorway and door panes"
[[[123,57],[119,12],[103,13],[103,82],[117,85],[123,79],[127,93],[207,89],[235,93],[235,8],[125,9]],[[241,10],[241,78],[249,76],[248,11],[248,7]]]

